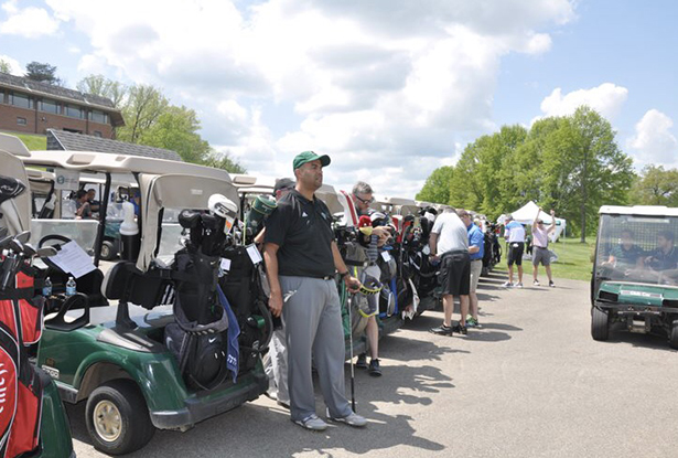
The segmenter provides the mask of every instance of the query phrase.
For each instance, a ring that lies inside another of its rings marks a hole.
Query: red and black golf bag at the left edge
[[[1,259],[2,270],[13,259]],[[18,457],[40,441],[42,382],[29,362],[28,345],[42,333],[44,298],[33,297],[35,270],[21,262],[13,281],[0,290],[0,457]],[[11,267],[13,268],[13,267]]]

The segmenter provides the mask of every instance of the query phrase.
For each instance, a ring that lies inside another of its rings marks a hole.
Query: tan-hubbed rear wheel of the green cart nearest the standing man
[[[125,455],[146,446],[155,428],[143,395],[129,380],[114,380],[87,400],[87,433],[97,450]]]

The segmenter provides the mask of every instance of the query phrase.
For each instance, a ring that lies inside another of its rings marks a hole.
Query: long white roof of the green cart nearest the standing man
[[[230,183],[230,175],[222,169],[139,156],[94,151],[30,151],[28,157],[21,159],[28,166],[39,164],[69,170],[96,170],[115,173],[192,174],[195,177],[212,177]]]

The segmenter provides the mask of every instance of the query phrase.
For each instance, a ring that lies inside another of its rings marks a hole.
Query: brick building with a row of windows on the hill
[[[0,72],[0,130],[46,135],[47,129],[115,138],[125,126],[110,99]]]

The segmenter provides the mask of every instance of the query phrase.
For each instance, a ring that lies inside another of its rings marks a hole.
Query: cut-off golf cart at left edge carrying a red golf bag
[[[28,244],[29,180],[15,153],[28,150],[19,139],[0,136],[0,455],[75,457],[56,385],[33,358],[43,323],[43,298],[35,294],[32,266],[40,254]],[[7,199],[7,193],[12,195]]]

